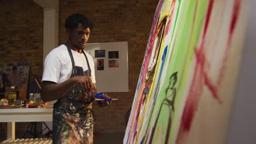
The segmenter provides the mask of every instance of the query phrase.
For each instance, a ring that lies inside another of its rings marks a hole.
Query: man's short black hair
[[[91,21],[88,19],[88,17],[86,17],[83,14],[72,14],[68,16],[65,22],[65,27],[66,29],[70,29],[72,31],[73,28],[79,25],[79,23],[81,23],[83,27],[86,27],[86,28],[89,27],[90,30],[92,31]]]

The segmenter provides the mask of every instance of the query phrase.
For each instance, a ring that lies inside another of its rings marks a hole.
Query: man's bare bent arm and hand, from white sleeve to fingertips
[[[93,88],[90,76],[74,76],[62,83],[43,81],[41,98],[45,102],[60,99],[73,85],[80,85],[88,90]]]

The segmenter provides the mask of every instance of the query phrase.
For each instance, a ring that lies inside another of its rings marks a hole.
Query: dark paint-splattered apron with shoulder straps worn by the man
[[[69,45],[73,76],[91,76],[91,69],[84,51],[88,70],[75,66]],[[88,107],[91,100],[80,86],[73,86],[54,104],[53,143],[93,143],[94,112]]]

